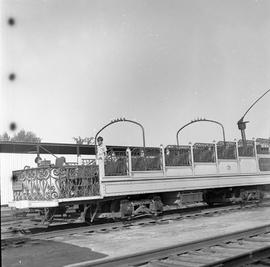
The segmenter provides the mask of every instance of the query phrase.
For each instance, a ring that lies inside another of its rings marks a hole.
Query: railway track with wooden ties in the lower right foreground
[[[186,244],[66,267],[270,266],[270,224]]]

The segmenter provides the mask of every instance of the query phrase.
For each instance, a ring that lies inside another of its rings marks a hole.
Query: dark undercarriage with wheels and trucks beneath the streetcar
[[[158,216],[166,211],[220,204],[260,203],[265,193],[263,186],[205,189],[197,191],[164,192],[95,200],[76,205],[40,209],[42,224],[56,218],[67,222],[93,223],[100,219],[132,219],[140,216]],[[269,190],[269,189],[267,189]]]

